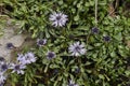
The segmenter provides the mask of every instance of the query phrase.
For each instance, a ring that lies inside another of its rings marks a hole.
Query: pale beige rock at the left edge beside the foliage
[[[20,47],[27,37],[26,34],[15,34],[14,30],[11,26],[6,27],[3,29],[4,34],[0,37],[0,56],[5,60],[11,60],[11,53],[13,51],[13,48],[6,48],[6,44],[12,43],[14,47]]]

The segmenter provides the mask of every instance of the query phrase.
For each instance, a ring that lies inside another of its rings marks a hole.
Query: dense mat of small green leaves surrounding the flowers
[[[5,15],[21,22],[21,31],[31,33],[35,39],[48,39],[43,47],[32,47],[37,62],[27,67],[25,75],[12,74],[9,83],[13,86],[66,86],[72,78],[79,86],[128,85],[130,18],[123,16],[122,8],[118,9],[116,17],[110,17],[110,2],[113,0],[99,0],[95,24],[94,0],[3,0]],[[51,26],[49,15],[53,11],[68,15],[65,27]],[[98,27],[100,32],[93,34],[92,27]],[[110,41],[104,42],[104,35],[109,35]],[[76,41],[86,44],[84,56],[69,56],[68,46]],[[55,52],[56,58],[48,60],[48,51]],[[79,73],[75,72],[77,68]]]

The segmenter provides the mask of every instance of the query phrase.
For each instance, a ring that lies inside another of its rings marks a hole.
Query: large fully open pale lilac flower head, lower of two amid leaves
[[[69,53],[72,53],[73,56],[80,56],[84,55],[86,48],[83,44],[80,44],[79,42],[76,42],[68,47]]]

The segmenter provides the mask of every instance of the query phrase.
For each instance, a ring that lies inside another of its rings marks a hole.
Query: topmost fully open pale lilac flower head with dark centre
[[[52,22],[52,25],[54,27],[63,27],[68,20],[67,15],[63,13],[56,13],[56,12],[52,13],[49,19]]]

